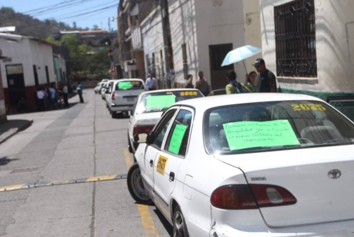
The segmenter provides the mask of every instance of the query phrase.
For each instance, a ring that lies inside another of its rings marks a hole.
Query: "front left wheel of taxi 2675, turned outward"
[[[152,203],[149,195],[145,192],[143,178],[140,174],[138,163],[135,163],[130,167],[128,171],[127,185],[130,195],[137,203],[146,205]]]

